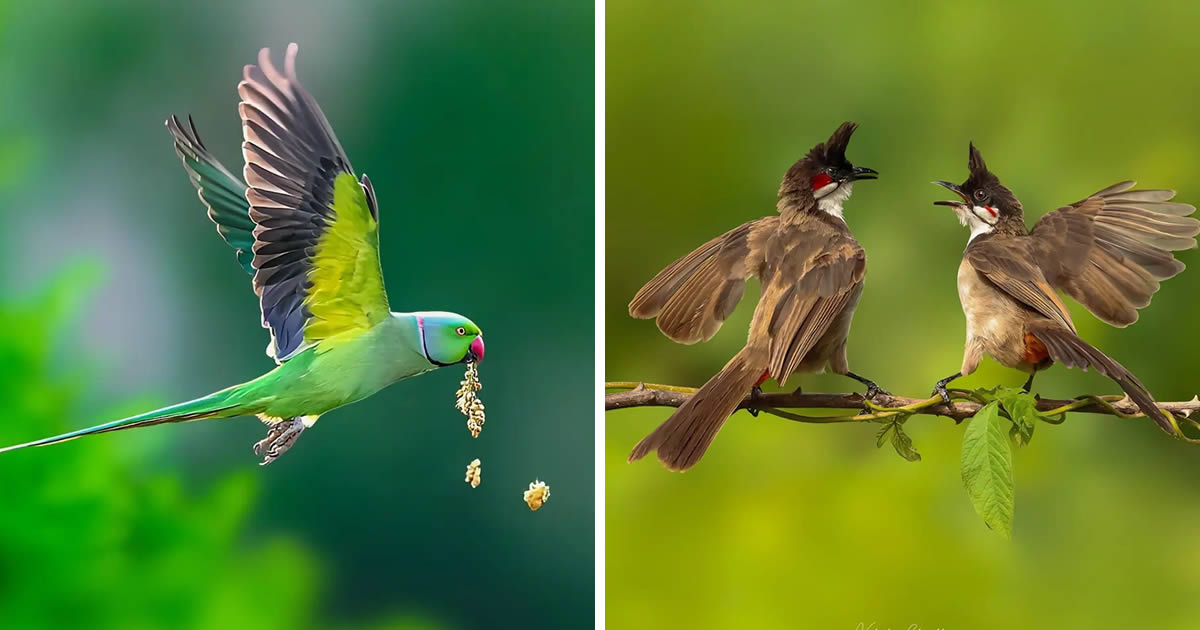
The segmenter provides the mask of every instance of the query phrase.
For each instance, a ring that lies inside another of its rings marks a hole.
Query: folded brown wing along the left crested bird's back
[[[748,346],[762,347],[756,337],[766,326],[767,370],[782,385],[862,290],[866,252],[820,218],[784,227],[766,246]]]

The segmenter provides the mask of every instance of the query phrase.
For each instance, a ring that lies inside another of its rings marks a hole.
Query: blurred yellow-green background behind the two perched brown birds
[[[931,202],[967,142],[1031,221],[1123,179],[1200,202],[1200,5],[640,2],[606,17],[606,378],[700,385],[744,343],[757,288],[710,342],[625,305],[667,263],[774,212],[788,166],[842,120],[880,170],[846,218],[868,252],[851,367],[923,396],[961,362],[967,233]],[[1200,391],[1200,253],[1126,330],[1080,334],[1159,400]],[[1019,385],[990,360],[964,386]],[[791,386],[859,391],[838,376]],[[772,383],[774,385],[774,383]],[[768,388],[769,389],[769,388]],[[1036,390],[1116,392],[1062,367]],[[667,409],[606,414],[612,628],[1158,628],[1200,619],[1200,450],[1151,422],[1073,415],[1015,454],[1013,540],[962,490],[962,427],[916,418],[920,463],[877,426],[737,414],[694,470],[626,464]],[[911,625],[917,624],[917,625]]]

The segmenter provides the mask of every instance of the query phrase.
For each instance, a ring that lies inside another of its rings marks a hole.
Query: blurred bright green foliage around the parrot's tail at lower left
[[[34,300],[0,302],[0,442],[62,432],[83,370],[52,352],[79,300],[80,270]],[[70,307],[70,308],[68,308]],[[250,470],[203,492],[144,457],[88,440],[0,457],[0,619],[5,628],[302,628],[319,584],[313,554],[284,536],[239,544],[260,488]],[[31,492],[35,490],[36,492]]]

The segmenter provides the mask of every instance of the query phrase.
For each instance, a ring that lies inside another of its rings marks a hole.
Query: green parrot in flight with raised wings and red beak
[[[208,151],[188,118],[167,128],[209,218],[253,276],[270,372],[194,401],[0,449],[44,446],[164,422],[257,415],[270,428],[254,452],[268,464],[325,412],[409,377],[481,361],[479,326],[456,313],[391,312],[379,266],[379,209],[317,101],[296,79],[298,47],[281,73],[270,52],[238,84],[241,179]]]

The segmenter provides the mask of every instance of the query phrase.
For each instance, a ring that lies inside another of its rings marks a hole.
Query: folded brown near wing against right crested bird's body
[[[967,245],[962,253],[976,271],[1014,300],[1074,332],[1075,323],[1037,264],[1032,236],[995,235]]]

